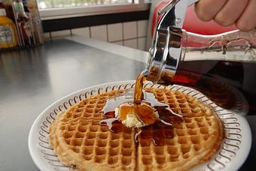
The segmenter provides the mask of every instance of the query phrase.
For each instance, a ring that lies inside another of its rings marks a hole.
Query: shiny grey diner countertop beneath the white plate
[[[0,170],[38,170],[29,154],[29,130],[50,104],[72,92],[121,80],[135,80],[148,53],[70,37],[44,46],[0,52]],[[252,147],[239,170],[256,160],[256,115],[245,116]]]

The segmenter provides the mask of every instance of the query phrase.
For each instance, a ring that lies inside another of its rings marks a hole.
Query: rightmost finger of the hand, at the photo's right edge
[[[256,27],[256,1],[251,0],[245,7],[242,16],[236,21],[236,26],[242,31],[249,31]]]

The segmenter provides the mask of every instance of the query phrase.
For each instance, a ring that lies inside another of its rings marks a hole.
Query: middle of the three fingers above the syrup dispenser
[[[216,14],[215,22],[221,26],[230,26],[236,23],[247,4],[248,0],[228,0]]]

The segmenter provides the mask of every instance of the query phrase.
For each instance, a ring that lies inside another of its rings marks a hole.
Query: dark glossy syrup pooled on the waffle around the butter
[[[155,145],[164,145],[164,137],[172,137],[172,125],[174,122],[183,121],[181,115],[173,113],[169,108],[168,104],[164,104],[157,101],[155,95],[151,92],[143,92],[142,94],[142,104],[133,104],[133,90],[127,90],[119,95],[114,96],[106,101],[105,107],[102,109],[102,116],[105,117],[104,120],[100,121],[99,124],[107,125],[111,132],[118,133],[123,130],[125,125],[122,124],[120,118],[122,118],[123,108],[134,108],[136,115],[144,123],[143,127],[134,129],[135,141],[141,139],[142,145],[147,145],[154,142]],[[161,99],[161,97],[158,97]],[[163,101],[163,100],[162,100]],[[153,107],[154,111],[157,112],[158,118],[154,118],[148,109],[144,109],[143,104]],[[120,114],[115,114],[116,107],[121,110]],[[126,109],[125,109],[126,110]],[[124,111],[126,112],[126,111]],[[127,113],[124,113],[124,115]],[[123,117],[125,118],[125,117]]]

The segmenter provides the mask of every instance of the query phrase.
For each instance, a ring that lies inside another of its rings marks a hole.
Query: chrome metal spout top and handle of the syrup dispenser
[[[148,80],[160,83],[160,77],[175,74],[181,58],[181,28],[187,7],[198,0],[171,0],[158,11],[161,16],[152,38],[148,60]],[[172,78],[170,78],[171,80]]]

